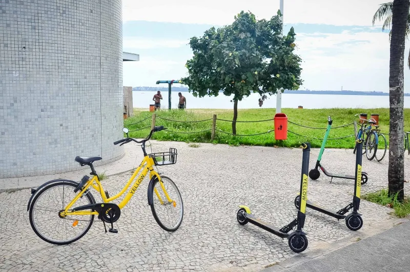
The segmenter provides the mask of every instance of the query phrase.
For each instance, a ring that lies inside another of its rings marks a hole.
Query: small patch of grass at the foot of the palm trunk
[[[362,199],[394,208],[394,213],[399,218],[406,217],[410,214],[410,199],[406,198],[403,202],[399,202],[397,200],[397,195],[394,197],[388,197],[386,189],[368,193],[367,195],[362,196]]]

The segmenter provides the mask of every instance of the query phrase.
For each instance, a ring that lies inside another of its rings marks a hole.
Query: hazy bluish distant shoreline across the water
[[[144,89],[142,89],[144,88]],[[166,87],[134,87],[133,91],[162,91],[168,92]],[[172,87],[172,92],[188,92],[188,88]],[[222,91],[220,91],[222,92]],[[387,92],[377,91],[308,91],[308,90],[285,90],[289,94],[327,94],[327,95],[371,95],[371,96],[389,96]],[[410,96],[410,93],[404,93],[404,96]]]

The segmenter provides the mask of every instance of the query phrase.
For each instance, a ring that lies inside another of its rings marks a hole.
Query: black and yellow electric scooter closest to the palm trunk
[[[358,148],[357,150],[362,150],[363,148],[363,142],[361,139],[358,139],[356,141],[356,147]],[[363,226],[363,219],[360,217],[360,213],[357,211],[359,210],[359,205],[360,205],[360,186],[361,186],[361,181],[360,177],[362,174],[362,152],[356,152],[356,175],[355,175],[355,191],[354,191],[354,196],[353,196],[353,202],[348,204],[346,207],[338,210],[337,212],[331,211],[326,208],[319,207],[309,200],[306,201],[306,204],[302,203],[303,205],[306,205],[306,207],[317,210],[319,212],[324,213],[325,215],[331,216],[336,218],[337,220],[339,219],[344,219],[346,221],[346,226],[351,229],[351,230],[359,230]],[[302,202],[303,196],[302,196]],[[300,203],[300,196],[297,196],[295,198],[295,206],[296,208],[299,209],[299,203]],[[353,211],[349,213],[347,216],[345,214],[350,211],[353,208]]]

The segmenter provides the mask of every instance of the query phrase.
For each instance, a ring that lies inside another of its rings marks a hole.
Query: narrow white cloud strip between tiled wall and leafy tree
[[[124,48],[152,49],[152,48],[178,48],[185,46],[189,40],[172,40],[163,38],[144,38],[125,36],[123,41]]]

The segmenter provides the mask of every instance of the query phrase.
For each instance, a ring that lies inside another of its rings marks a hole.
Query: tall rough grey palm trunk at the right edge
[[[409,0],[394,0],[390,43],[388,195],[404,199],[404,44]]]

